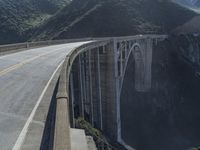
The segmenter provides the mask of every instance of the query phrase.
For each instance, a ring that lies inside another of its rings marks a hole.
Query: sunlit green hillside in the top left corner
[[[0,0],[0,44],[27,40],[25,31],[66,6],[70,0]]]

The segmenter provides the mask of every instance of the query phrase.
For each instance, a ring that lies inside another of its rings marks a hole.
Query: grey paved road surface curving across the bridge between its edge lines
[[[86,42],[0,56],[0,149],[21,147],[50,79],[67,53]]]

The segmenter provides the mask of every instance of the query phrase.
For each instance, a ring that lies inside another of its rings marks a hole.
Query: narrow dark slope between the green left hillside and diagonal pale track
[[[87,14],[99,6],[101,0],[73,0],[72,3],[51,17],[45,24],[36,28],[33,39],[53,39],[56,35],[67,30],[81,21]]]

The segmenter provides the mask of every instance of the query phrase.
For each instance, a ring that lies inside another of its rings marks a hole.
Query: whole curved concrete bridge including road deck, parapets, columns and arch
[[[151,91],[154,48],[167,38],[137,35],[0,46],[0,146],[87,150],[90,141],[90,149],[116,149],[101,141],[95,145],[75,129],[82,117],[112,141],[136,148],[129,134],[134,123],[127,120],[131,111],[125,111],[131,103],[124,98],[133,90]]]

